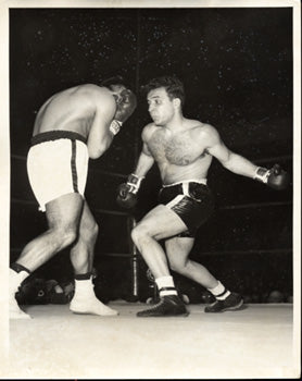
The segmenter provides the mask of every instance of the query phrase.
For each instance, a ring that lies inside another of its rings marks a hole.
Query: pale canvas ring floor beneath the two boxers
[[[67,305],[28,306],[10,321],[9,370],[21,379],[288,378],[295,374],[291,304],[247,305],[188,317],[137,318],[144,304],[110,306],[117,317],[74,315]]]

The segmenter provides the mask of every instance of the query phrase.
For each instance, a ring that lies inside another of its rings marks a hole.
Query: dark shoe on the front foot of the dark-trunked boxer
[[[188,316],[184,302],[177,295],[166,295],[161,297],[152,308],[137,312],[139,318],[161,318],[171,316]]]

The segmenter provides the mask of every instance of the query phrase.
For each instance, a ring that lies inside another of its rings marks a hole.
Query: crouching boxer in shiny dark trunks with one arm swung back
[[[205,312],[238,309],[242,297],[228,291],[209,270],[189,259],[198,228],[212,213],[214,200],[206,185],[213,157],[229,171],[282,189],[288,176],[278,165],[267,170],[255,167],[231,152],[211,125],[184,118],[184,87],[175,77],[160,77],[147,85],[147,99],[152,123],[142,131],[142,151],[135,172],[118,189],[117,201],[130,208],[136,202],[140,183],[154,162],[163,188],[159,206],[149,211],[133,230],[133,239],[152,271],[160,303],[138,312],[139,317],[188,315],[175,290],[172,270],[207,288],[215,303]],[[165,251],[159,244],[165,239]]]

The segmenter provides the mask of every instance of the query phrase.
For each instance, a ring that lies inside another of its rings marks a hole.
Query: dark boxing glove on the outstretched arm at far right
[[[259,167],[254,180],[267,184],[270,188],[276,190],[286,189],[289,185],[289,175],[279,164],[275,164],[270,170]]]

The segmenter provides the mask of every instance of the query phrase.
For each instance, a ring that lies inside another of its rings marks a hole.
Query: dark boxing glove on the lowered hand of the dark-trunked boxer
[[[127,179],[127,183],[123,183],[118,186],[116,202],[122,208],[131,209],[136,206],[137,193],[142,180],[143,177],[130,174]]]

